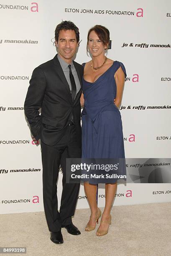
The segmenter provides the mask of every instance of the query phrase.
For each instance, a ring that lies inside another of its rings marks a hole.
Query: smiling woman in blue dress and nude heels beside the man
[[[83,64],[82,158],[125,158],[119,108],[126,71],[121,62],[105,56],[109,41],[110,33],[104,26],[96,25],[88,32],[87,48],[92,60]],[[105,209],[97,236],[108,232],[116,188],[117,179],[105,184]],[[91,231],[101,216],[96,201],[97,186],[84,182],[84,189],[91,209],[85,230]]]

